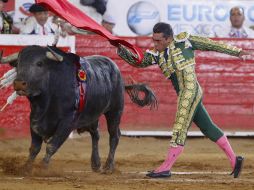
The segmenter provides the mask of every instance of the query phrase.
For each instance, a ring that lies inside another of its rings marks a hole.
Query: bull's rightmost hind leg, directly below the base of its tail
[[[119,124],[122,112],[108,112],[105,114],[107,120],[107,127],[109,132],[109,154],[107,161],[103,167],[104,173],[112,173],[114,170],[115,151],[121,135]]]

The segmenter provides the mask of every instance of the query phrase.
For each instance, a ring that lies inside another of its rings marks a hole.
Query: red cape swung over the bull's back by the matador
[[[132,49],[137,55],[137,62],[141,63],[143,59],[143,52],[140,48],[130,44],[129,42],[112,35],[104,27],[98,24],[96,21],[91,19],[77,7],[69,3],[67,0],[36,0],[36,3],[40,3],[47,7],[50,11],[55,13],[57,16],[65,19],[73,26],[77,28],[92,31],[107,38],[112,44],[122,44]],[[135,59],[135,58],[134,58]]]

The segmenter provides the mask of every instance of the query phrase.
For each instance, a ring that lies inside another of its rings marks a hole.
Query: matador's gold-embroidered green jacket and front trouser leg
[[[187,32],[174,36],[172,43],[161,53],[155,50],[147,50],[141,64],[136,63],[133,59],[133,56],[136,55],[133,55],[124,46],[118,48],[118,55],[130,65],[147,67],[157,64],[165,77],[171,79],[178,94],[178,108],[171,146],[184,145],[188,129],[202,99],[202,89],[195,73],[194,50],[216,51],[233,56],[239,56],[241,52],[239,48],[208,38],[192,36]]]

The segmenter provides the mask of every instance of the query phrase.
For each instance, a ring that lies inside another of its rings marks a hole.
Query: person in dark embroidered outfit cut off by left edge
[[[1,34],[11,34],[13,20],[10,15],[3,11],[5,3],[8,0],[0,0],[0,31]]]

